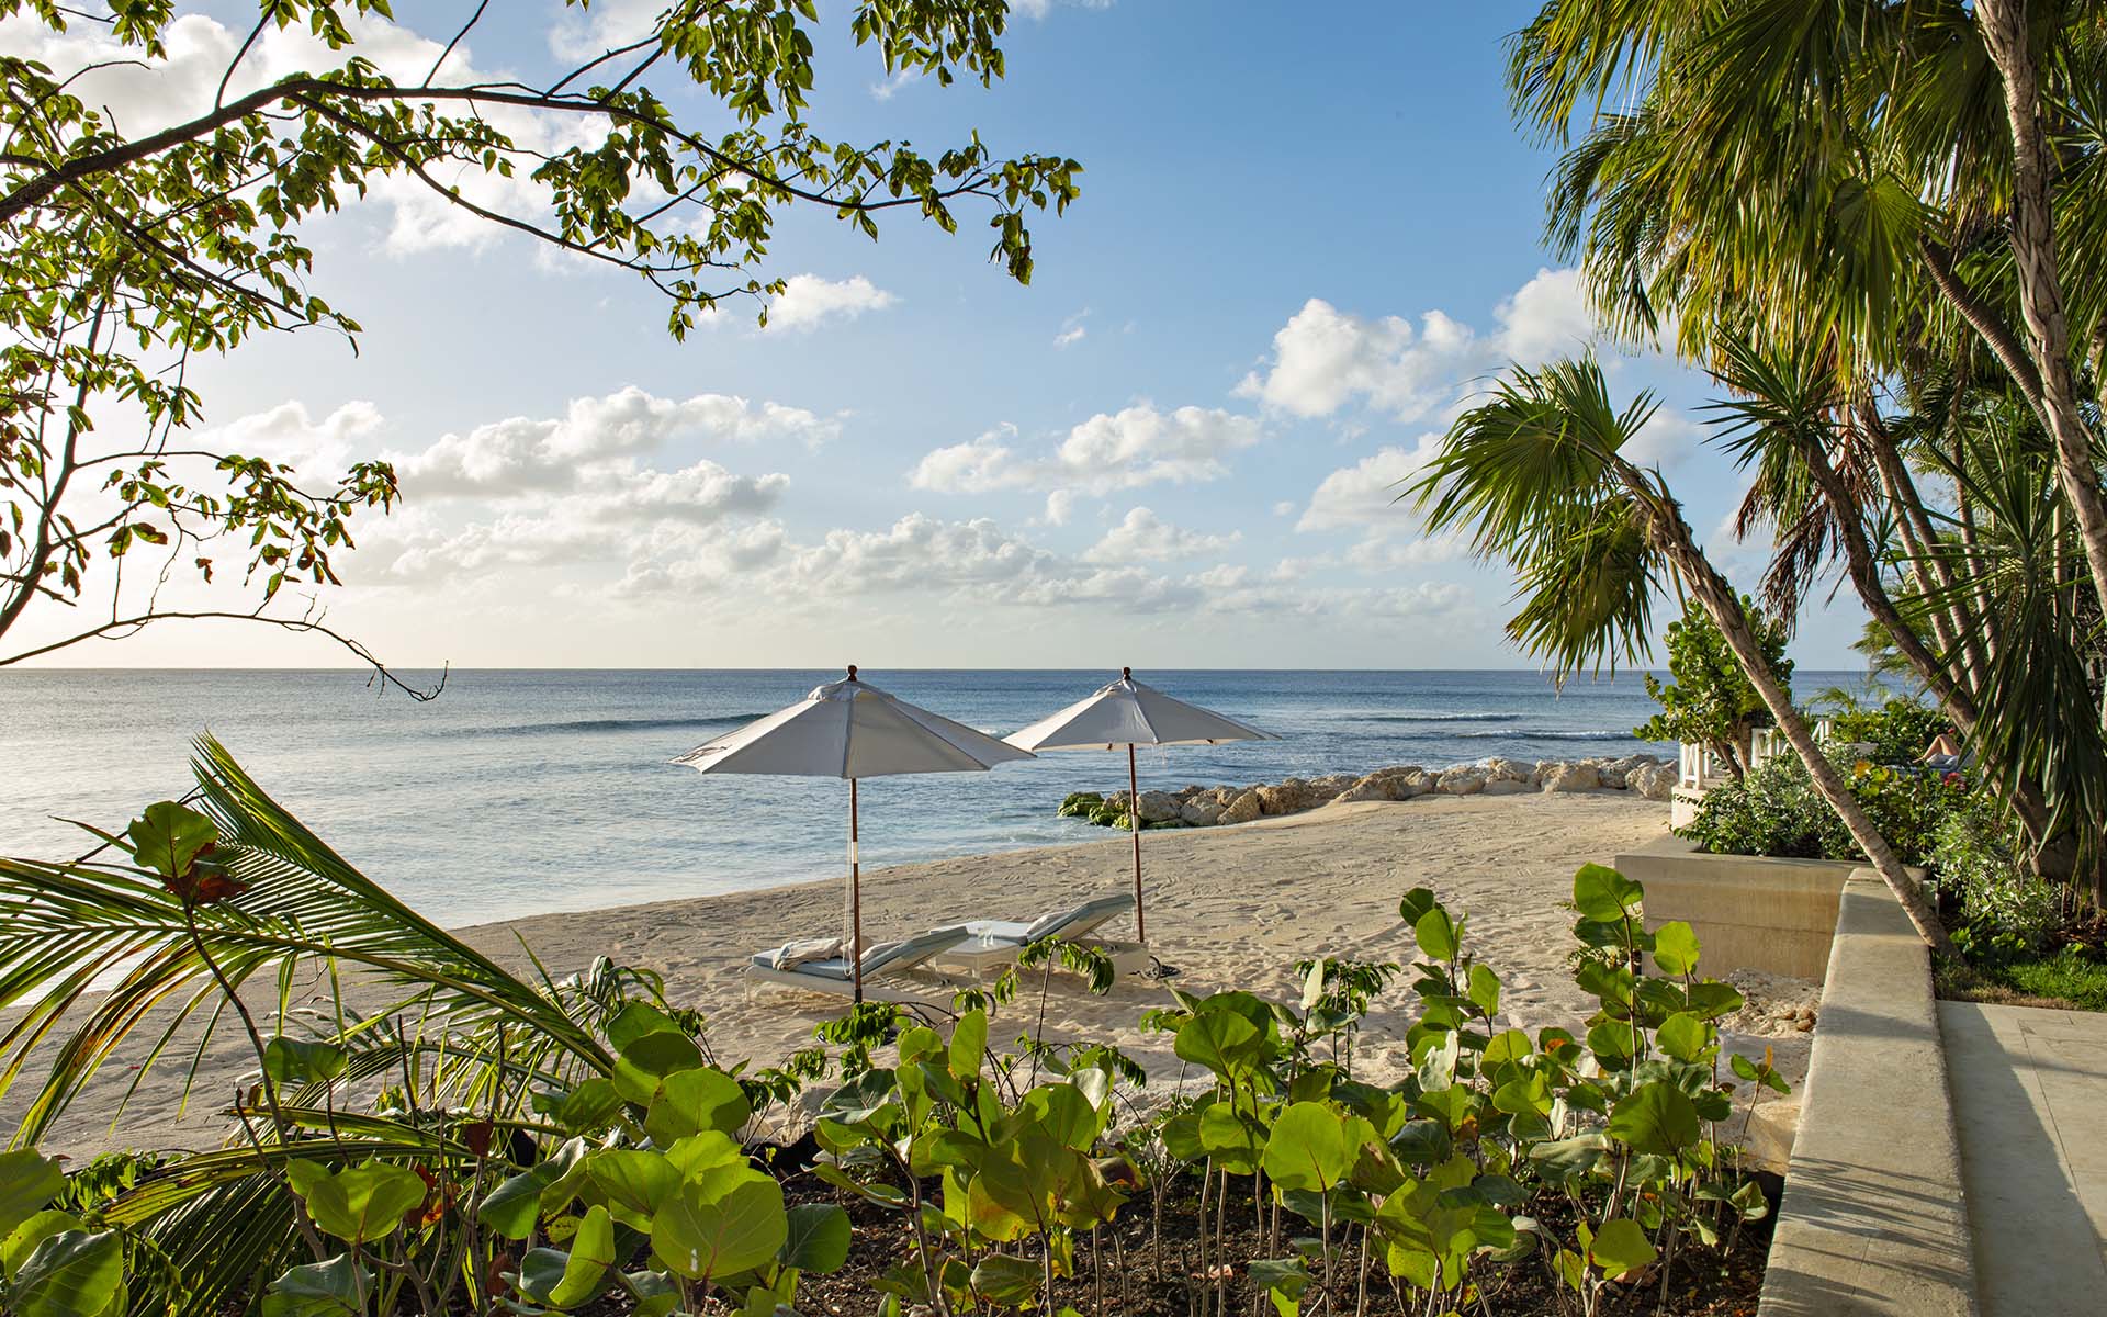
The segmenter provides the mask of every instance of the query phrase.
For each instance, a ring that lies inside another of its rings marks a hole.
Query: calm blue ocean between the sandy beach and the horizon
[[[407,681],[432,674],[405,672]],[[324,841],[449,925],[834,877],[847,786],[702,775],[668,763],[834,681],[836,670],[453,672],[417,704],[350,670],[0,672],[0,853],[74,858],[82,820],[122,828],[190,788],[211,729]],[[1005,735],[1112,672],[877,672],[864,681]],[[1631,727],[1654,712],[1639,674],[1140,672],[1285,740],[1140,752],[1142,788],[1279,782],[1504,754],[1673,754]],[[1799,674],[1825,685],[1823,674]],[[862,784],[866,866],[1098,841],[1054,809],[1123,790],[1123,754],[1058,752],[988,773]]]

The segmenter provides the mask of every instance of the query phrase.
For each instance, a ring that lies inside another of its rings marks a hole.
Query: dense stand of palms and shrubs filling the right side
[[[1509,46],[1517,122],[1559,152],[1551,244],[1614,337],[1667,337],[1719,386],[1705,419],[1749,474],[1734,533],[1770,542],[1764,611],[1789,634],[1839,577],[1966,744],[1955,794],[2014,866],[1962,883],[1978,908],[2023,906],[1985,893],[2029,883],[2037,908],[2107,902],[2103,51],[2084,6],[2010,2],[1561,2]],[[1639,662],[1673,588],[1797,756],[1702,826],[1863,856],[1953,950],[1898,853],[1930,856],[1915,797],[1941,788],[1812,735],[1675,491],[1629,455],[1654,409],[1616,405],[1593,358],[1519,362],[1405,493],[1517,571],[1509,634],[1559,679]],[[1665,719],[1688,704],[1677,687]],[[1852,740],[1928,721],[1890,712],[1839,721]]]

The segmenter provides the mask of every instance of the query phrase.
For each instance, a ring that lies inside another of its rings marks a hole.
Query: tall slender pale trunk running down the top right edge
[[[2092,432],[2078,411],[2071,379],[2071,325],[2056,272],[2056,228],[2048,207],[2048,137],[2042,133],[2042,91],[2027,34],[2025,0],[1978,0],[1976,23],[2004,78],[2004,110],[2012,126],[2012,261],[2019,308],[2027,320],[2033,365],[2042,377],[2042,411],[2056,443],[2056,476],[2078,514],[2078,533],[2092,567],[2092,588],[2107,601],[2107,499],[2092,466]]]

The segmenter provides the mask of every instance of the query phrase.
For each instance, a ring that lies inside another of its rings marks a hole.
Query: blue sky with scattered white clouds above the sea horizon
[[[209,103],[255,13],[181,8],[169,67],[82,82],[133,131]],[[398,2],[358,48],[421,76],[468,8]],[[451,67],[548,74],[653,8],[508,0]],[[822,135],[933,152],[978,129],[1083,162],[1070,213],[1032,219],[1030,287],[988,263],[982,215],[872,242],[803,209],[763,268],[788,280],[769,327],[731,310],[676,343],[634,276],[381,188],[308,230],[356,354],[303,333],[194,369],[206,445],[396,464],[402,504],[354,523],[331,626],[400,668],[1534,666],[1500,630],[1509,571],[1393,502],[1494,371],[1593,341],[1542,244],[1551,154],[1507,110],[1502,38],[1532,6],[1035,0],[988,91],[887,78],[849,6],[820,11]],[[107,55],[91,25],[21,19],[0,48]],[[244,78],[316,59],[272,36]],[[1620,398],[1660,394],[1641,455],[1753,586],[1707,381],[1599,350]],[[1816,594],[1793,655],[1858,666],[1856,632]],[[346,660],[166,624],[53,662]]]

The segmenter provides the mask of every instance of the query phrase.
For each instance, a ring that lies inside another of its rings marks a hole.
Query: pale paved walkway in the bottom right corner
[[[2107,1014],[1941,1001],[1983,1317],[2107,1311]]]

